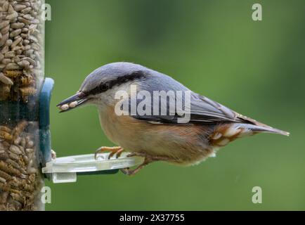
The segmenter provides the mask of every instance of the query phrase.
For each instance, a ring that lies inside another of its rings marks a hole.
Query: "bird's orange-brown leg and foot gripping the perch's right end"
[[[166,156],[154,156],[154,155],[148,155],[146,153],[130,153],[129,155],[127,155],[127,157],[134,157],[134,156],[143,157],[143,158],[145,158],[145,160],[141,165],[136,167],[136,169],[129,169],[129,168],[121,169],[123,174],[133,176],[133,175],[137,174],[141,169],[143,169],[143,167],[150,164],[151,162],[170,160],[170,158],[166,157]]]

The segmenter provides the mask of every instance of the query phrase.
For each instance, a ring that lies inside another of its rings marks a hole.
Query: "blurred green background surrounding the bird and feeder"
[[[58,157],[112,146],[96,108],[59,114],[92,70],[115,61],[164,72],[193,91],[273,127],[194,167],[157,162],[134,177],[79,176],[46,185],[46,210],[305,210],[305,1],[48,0],[46,76],[55,79]],[[252,20],[252,4],[263,21]],[[263,203],[252,203],[252,188]]]

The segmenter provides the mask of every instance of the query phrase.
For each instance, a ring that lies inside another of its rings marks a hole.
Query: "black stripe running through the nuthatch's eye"
[[[109,89],[112,89],[113,86],[124,84],[126,82],[130,82],[135,79],[141,79],[143,77],[145,77],[144,71],[136,71],[133,72],[131,75],[124,75],[122,77],[117,77],[117,79],[111,80],[110,82],[100,83],[100,85],[96,86],[94,89],[87,91],[86,95],[89,96],[89,95],[100,94],[105,91],[108,91]]]

